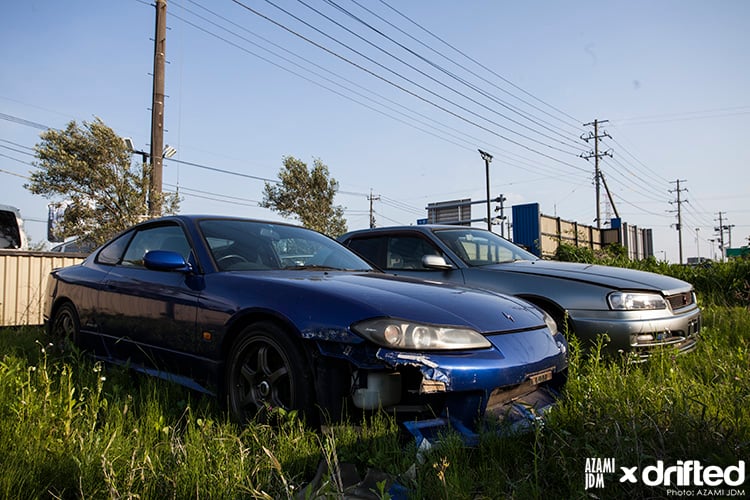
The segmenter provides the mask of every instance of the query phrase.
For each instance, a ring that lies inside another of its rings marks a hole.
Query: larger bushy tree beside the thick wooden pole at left
[[[147,218],[150,165],[133,165],[125,141],[101,119],[49,129],[35,146],[39,169],[24,187],[67,205],[58,236],[100,244]],[[176,195],[162,198],[162,213],[174,213]]]

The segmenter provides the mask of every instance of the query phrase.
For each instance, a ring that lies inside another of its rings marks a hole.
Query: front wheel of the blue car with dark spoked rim
[[[240,424],[266,421],[276,408],[312,420],[313,384],[292,337],[270,322],[254,323],[237,337],[227,358],[227,402]]]

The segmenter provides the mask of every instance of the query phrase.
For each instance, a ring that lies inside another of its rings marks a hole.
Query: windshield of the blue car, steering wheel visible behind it
[[[301,227],[207,219],[200,222],[200,228],[222,271],[372,270],[336,241]]]

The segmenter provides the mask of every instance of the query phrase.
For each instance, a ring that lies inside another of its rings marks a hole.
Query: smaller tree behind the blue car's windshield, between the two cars
[[[329,177],[328,167],[315,159],[312,171],[302,161],[285,156],[277,185],[266,183],[261,207],[284,217],[293,216],[303,226],[336,237],[344,234],[344,209],[333,205],[339,184]]]

